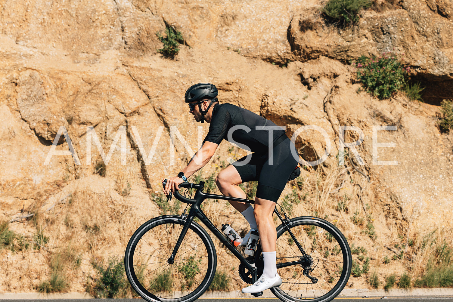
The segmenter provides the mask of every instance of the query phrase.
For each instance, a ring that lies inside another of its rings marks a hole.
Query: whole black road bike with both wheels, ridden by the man
[[[183,196],[174,196],[190,206],[181,215],[164,215],[146,221],[132,235],[125,251],[129,282],[149,302],[192,302],[206,292],[217,268],[215,246],[207,230],[239,260],[238,273],[245,283],[255,283],[263,272],[258,243],[254,256],[245,257],[217,229],[200,208],[206,199],[254,201],[203,192],[204,182],[183,182]],[[192,191],[195,191],[192,198]],[[190,191],[190,196],[188,193]],[[169,196],[171,199],[171,195]],[[289,218],[277,208],[277,271],[280,287],[270,291],[284,302],[328,302],[342,291],[351,273],[351,250],[346,238],[332,223],[317,217]],[[194,221],[198,218],[206,226]],[[253,294],[255,297],[262,292]]]

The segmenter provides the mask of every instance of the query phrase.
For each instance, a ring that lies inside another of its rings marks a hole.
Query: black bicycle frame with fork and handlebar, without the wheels
[[[226,247],[231,251],[231,253],[233,253],[236,256],[236,258],[239,259],[246,266],[246,268],[249,271],[252,272],[252,281],[253,281],[253,283],[255,283],[256,282],[256,278],[257,278],[257,276],[256,276],[257,268],[256,268],[256,265],[255,265],[255,262],[258,259],[258,255],[260,253],[257,251],[255,253],[255,257],[253,259],[254,261],[252,263],[248,262],[247,259],[245,259],[244,256],[242,256],[241,253],[239,253],[239,251],[236,249],[236,247],[233,244],[231,244],[231,242],[229,240],[227,240],[225,238],[223,233],[221,231],[219,231],[216,228],[215,225],[212,224],[212,222],[209,220],[209,218],[207,218],[207,216],[204,214],[204,212],[200,208],[200,205],[206,199],[220,199],[220,200],[229,200],[229,201],[240,201],[240,202],[251,203],[251,204],[254,204],[255,201],[248,200],[248,199],[242,199],[242,198],[236,198],[236,197],[228,197],[228,196],[224,196],[224,195],[204,193],[204,192],[202,192],[203,187],[204,187],[204,182],[200,182],[200,184],[198,184],[198,185],[197,184],[191,184],[191,183],[188,183],[188,182],[183,182],[179,187],[180,188],[181,187],[191,187],[191,188],[197,189],[197,191],[195,192],[195,196],[194,196],[193,199],[190,199],[190,198],[182,196],[177,190],[175,190],[175,192],[174,192],[175,197],[179,201],[182,201],[184,203],[190,204],[191,208],[190,208],[190,210],[188,212],[188,215],[187,216],[182,216],[182,218],[181,218],[182,220],[185,221],[184,226],[183,226],[183,230],[181,230],[181,234],[179,235],[178,241],[176,242],[176,244],[175,244],[175,246],[173,248],[173,252],[172,252],[170,258],[168,259],[168,262],[170,264],[173,263],[174,257],[176,256],[176,253],[178,252],[178,249],[179,249],[181,243],[183,242],[183,238],[184,238],[184,236],[187,233],[189,225],[192,223],[193,219],[195,217],[197,217],[204,225],[206,225],[206,227],[209,230],[211,230],[212,234],[214,234],[223,244],[225,244]],[[289,235],[293,238],[294,243],[297,245],[297,247],[299,248],[301,253],[304,255],[303,259],[299,259],[298,261],[291,261],[291,262],[287,262],[287,263],[279,263],[279,264],[277,264],[277,268],[283,268],[283,267],[294,265],[294,264],[302,264],[302,265],[304,265],[306,263],[309,263],[308,255],[305,253],[304,249],[299,244],[299,240],[296,239],[296,237],[294,236],[293,232],[291,232],[291,229],[288,227],[288,224],[291,224],[290,220],[283,219],[276,208],[274,209],[274,213],[277,214],[277,216],[279,217],[280,221],[282,221],[282,223],[284,224],[284,226],[285,226],[286,230],[288,231]]]

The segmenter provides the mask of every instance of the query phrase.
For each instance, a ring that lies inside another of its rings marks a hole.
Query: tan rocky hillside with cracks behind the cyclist
[[[288,135],[304,125],[325,131],[327,140],[314,130],[298,135],[305,160],[330,151],[280,203],[292,204],[294,216],[335,221],[350,244],[366,247],[371,268],[349,286],[370,286],[371,272],[381,282],[391,273],[423,275],[422,255],[452,241],[453,136],[438,127],[440,101],[453,98],[452,1],[378,1],[342,29],[326,23],[324,4],[0,0],[0,216],[1,230],[16,234],[0,249],[0,292],[37,291],[67,250],[76,260],[67,262],[63,290],[82,292],[93,261],[122,257],[133,231],[164,211],[161,180],[180,171],[207,133],[183,103],[197,82],[216,84],[221,102],[285,125]],[[183,35],[173,60],[157,52],[156,32],[166,27]],[[410,67],[425,103],[359,89],[350,62],[384,52]],[[342,125],[357,127],[345,132],[347,143],[363,132],[362,162],[345,149],[351,154],[339,164]],[[387,125],[394,130],[377,131]],[[56,150],[68,153],[69,138],[72,156],[48,158],[57,134]],[[223,142],[202,177],[241,154]],[[232,207],[212,202],[207,211],[217,225],[246,228]],[[222,257],[219,269],[236,276],[236,262]],[[233,277],[230,288],[242,285]]]

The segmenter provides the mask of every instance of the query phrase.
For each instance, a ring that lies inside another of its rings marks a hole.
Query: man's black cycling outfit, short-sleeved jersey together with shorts
[[[235,126],[247,128],[235,129]],[[261,130],[262,126],[274,126],[276,129],[272,130],[269,137],[271,130]],[[234,130],[230,137],[229,130]],[[277,202],[289,175],[298,163],[291,154],[294,144],[286,136],[285,130],[249,110],[232,104],[221,104],[212,110],[211,125],[203,143],[220,144],[222,139],[243,149],[247,149],[244,148],[247,146],[254,152],[251,158],[245,156],[232,165],[242,182],[258,181],[256,197]],[[270,143],[274,143],[271,152]],[[295,149],[294,152],[297,153]]]

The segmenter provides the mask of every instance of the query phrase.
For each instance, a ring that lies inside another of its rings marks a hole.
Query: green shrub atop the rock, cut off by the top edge
[[[322,12],[328,21],[340,27],[356,24],[359,20],[359,12],[370,7],[370,0],[329,0],[323,7]]]

